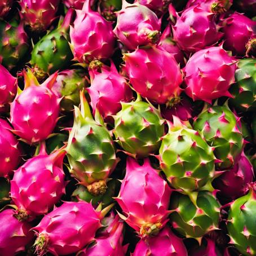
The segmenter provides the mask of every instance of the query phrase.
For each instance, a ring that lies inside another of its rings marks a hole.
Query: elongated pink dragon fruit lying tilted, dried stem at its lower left
[[[45,215],[33,228],[37,240],[34,244],[38,256],[76,253],[94,240],[95,232],[102,226],[103,217],[91,203],[64,202]]]

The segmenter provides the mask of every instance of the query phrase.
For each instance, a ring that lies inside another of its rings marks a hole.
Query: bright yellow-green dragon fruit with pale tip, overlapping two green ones
[[[198,131],[173,116],[169,133],[162,138],[160,167],[172,187],[189,193],[206,185],[214,176],[213,149]]]

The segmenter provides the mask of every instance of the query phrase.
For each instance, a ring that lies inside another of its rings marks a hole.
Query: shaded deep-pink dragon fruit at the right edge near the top
[[[235,12],[224,19],[220,25],[224,32],[224,49],[232,51],[233,55],[244,56],[246,45],[256,36],[256,21]]]

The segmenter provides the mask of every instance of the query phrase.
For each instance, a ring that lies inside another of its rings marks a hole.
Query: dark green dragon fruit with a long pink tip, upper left
[[[73,59],[68,42],[68,30],[72,16],[73,9],[69,9],[63,23],[42,37],[34,46],[30,63],[38,80],[43,80],[47,73],[52,74],[57,70],[67,68],[70,60]]]

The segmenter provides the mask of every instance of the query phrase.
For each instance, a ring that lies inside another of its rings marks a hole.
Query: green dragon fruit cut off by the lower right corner
[[[232,202],[228,211],[227,228],[231,244],[243,255],[256,254],[256,184],[250,184],[249,193]]]

